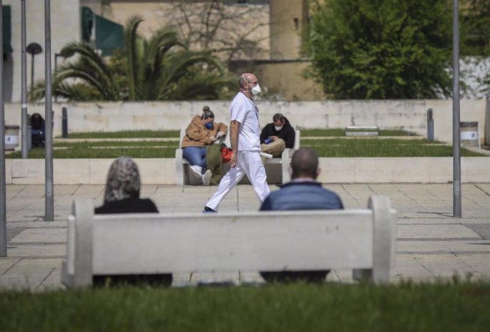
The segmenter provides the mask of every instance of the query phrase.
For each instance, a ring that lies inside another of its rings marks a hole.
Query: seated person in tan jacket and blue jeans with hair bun
[[[202,115],[194,116],[185,129],[183,157],[190,163],[191,172],[200,177],[205,186],[209,186],[212,178],[211,170],[206,170],[206,147],[226,136],[227,132],[227,125],[214,123],[214,113],[208,106],[204,106]]]

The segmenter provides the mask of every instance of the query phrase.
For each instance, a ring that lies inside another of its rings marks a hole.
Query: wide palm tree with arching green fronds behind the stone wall
[[[217,57],[191,52],[165,28],[149,40],[141,38],[136,33],[141,21],[129,19],[126,50],[116,52],[111,61],[84,43],[62,48],[62,57],[77,55],[77,59],[56,68],[53,95],[70,101],[219,99],[234,87]],[[44,82],[38,82],[31,99],[42,99],[44,94]]]

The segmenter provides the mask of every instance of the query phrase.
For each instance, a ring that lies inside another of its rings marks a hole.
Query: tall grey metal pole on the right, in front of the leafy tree
[[[452,6],[452,216],[461,218],[461,155],[459,134],[459,4]]]

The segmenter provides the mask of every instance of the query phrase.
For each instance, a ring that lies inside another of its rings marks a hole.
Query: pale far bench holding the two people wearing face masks
[[[184,184],[200,184],[201,183],[200,179],[194,179],[190,175],[189,162],[185,160],[183,157],[182,140],[184,136],[185,136],[185,128],[182,128],[180,129],[179,148],[175,150],[175,167],[176,167],[176,175],[177,175],[177,179],[175,180],[175,183],[178,186],[183,186]],[[282,175],[281,180],[283,184],[290,182],[290,175],[288,170],[290,157],[293,156],[293,152],[295,150],[298,150],[300,148],[300,137],[301,137],[301,132],[297,129],[293,148],[292,149],[286,148],[281,154],[281,157],[266,160],[265,165],[269,165],[269,164],[281,165],[281,175]],[[224,143],[226,143],[227,146],[231,146],[229,142],[229,135],[227,136]]]

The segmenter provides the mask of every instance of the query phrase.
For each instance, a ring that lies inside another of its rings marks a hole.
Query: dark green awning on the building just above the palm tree
[[[94,14],[86,6],[81,7],[80,16],[82,41],[102,50],[102,55],[111,55],[116,48],[124,48],[124,28],[121,24]]]

